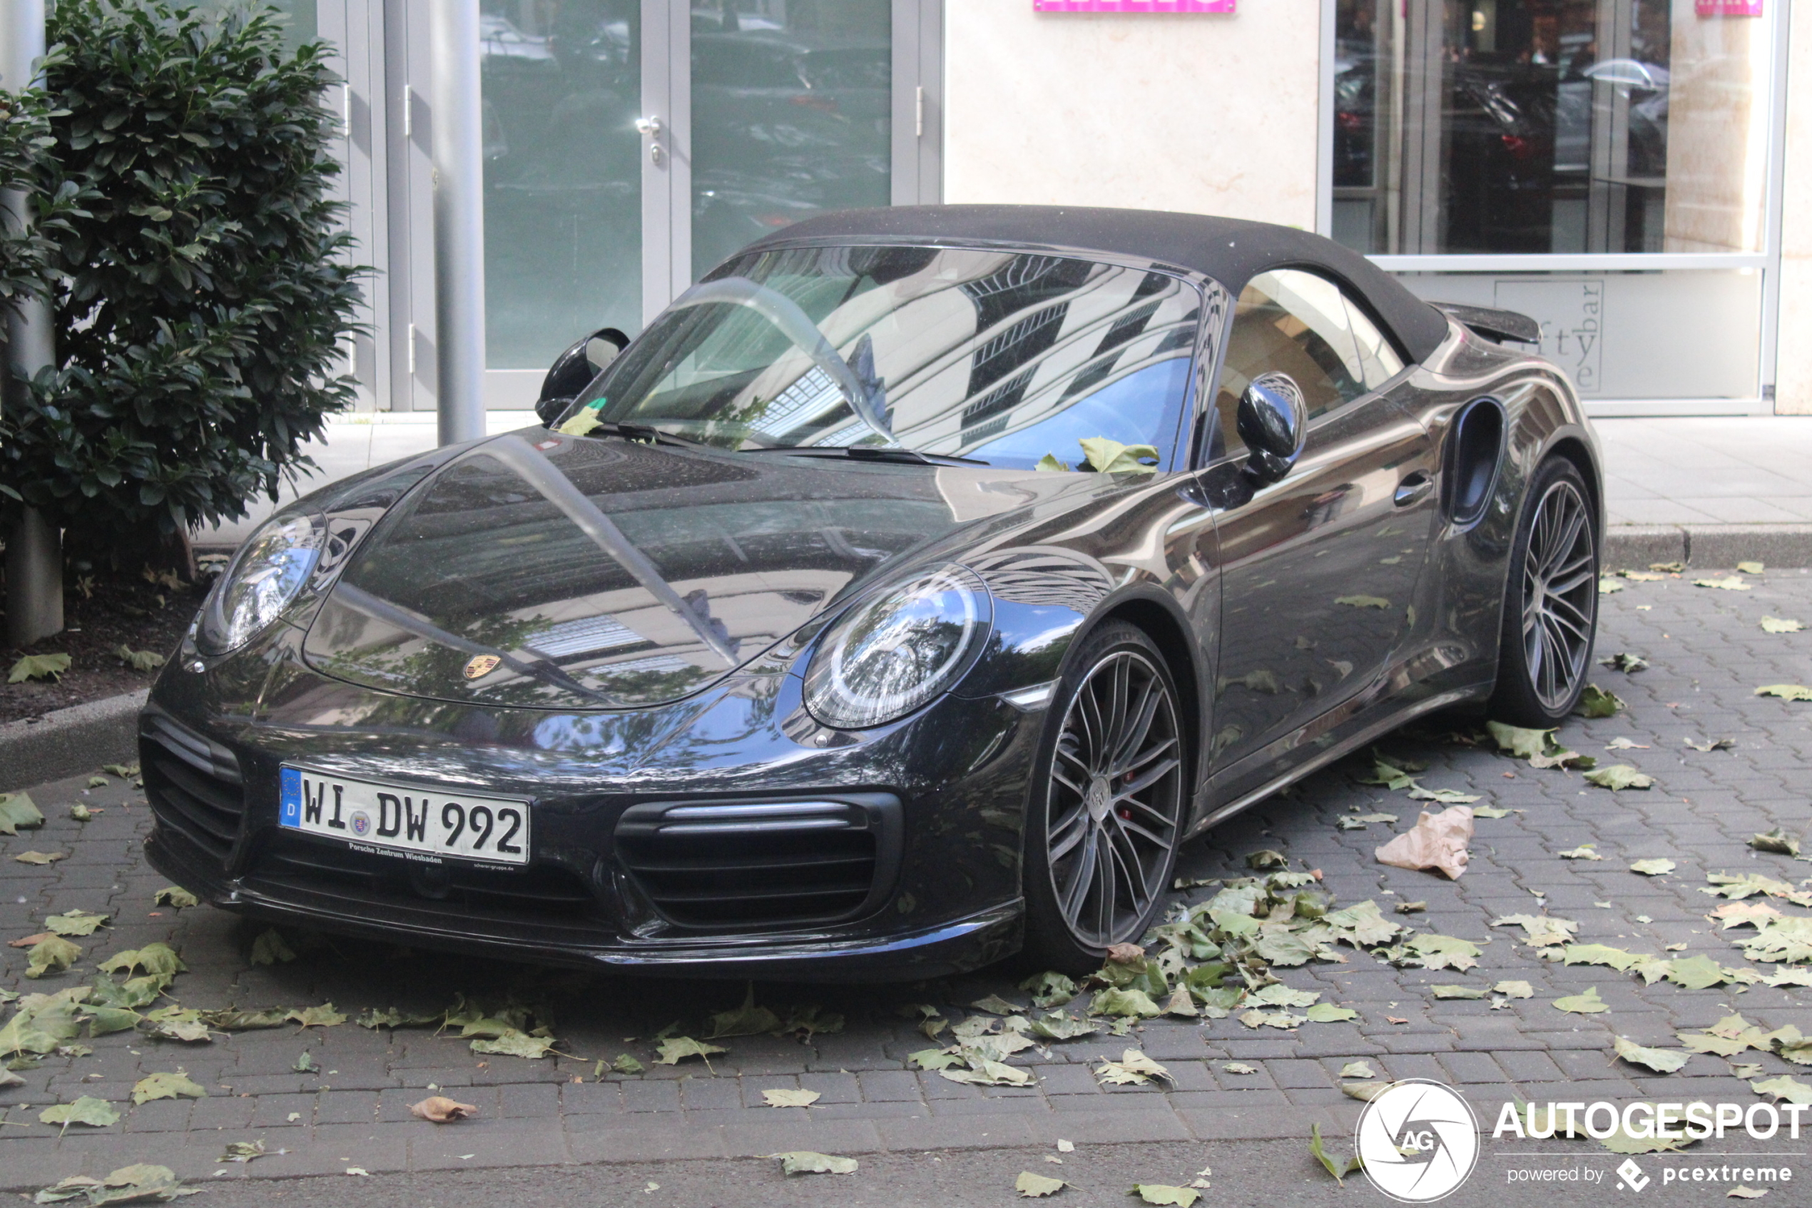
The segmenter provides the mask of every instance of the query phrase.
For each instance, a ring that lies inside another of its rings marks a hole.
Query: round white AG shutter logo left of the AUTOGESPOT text
[[[1402,1204],[1428,1204],[1471,1175],[1479,1117],[1451,1087],[1412,1078],[1364,1105],[1354,1148],[1372,1186]]]

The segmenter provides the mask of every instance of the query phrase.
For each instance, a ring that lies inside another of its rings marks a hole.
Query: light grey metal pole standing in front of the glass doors
[[[435,369],[440,444],[484,435],[484,107],[478,0],[431,0]]]

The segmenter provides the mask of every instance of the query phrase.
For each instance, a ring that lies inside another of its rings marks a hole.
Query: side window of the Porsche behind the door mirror
[[[1297,268],[1259,273],[1239,292],[1227,337],[1216,395],[1219,449],[1245,447],[1236,429],[1239,395],[1259,373],[1288,373],[1316,420],[1377,389],[1401,368],[1390,340],[1337,284]]]

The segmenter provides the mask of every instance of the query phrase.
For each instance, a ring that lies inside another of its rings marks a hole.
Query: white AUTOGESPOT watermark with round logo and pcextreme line
[[[1607,1141],[1622,1136],[1634,1141],[1723,1141],[1747,1136],[1752,1141],[1798,1141],[1803,1103],[1506,1103],[1499,1112],[1491,1139],[1544,1141],[1549,1137],[1593,1137]],[[1364,1105],[1354,1146],[1364,1161],[1372,1186],[1404,1204],[1428,1204],[1459,1190],[1479,1165],[1480,1132],[1471,1105],[1459,1090],[1431,1079],[1392,1083]],[[1517,1157],[1515,1150],[1497,1154]],[[1578,1154],[1591,1157],[1595,1154]],[[1529,1157],[1535,1157],[1531,1154]],[[1555,1157],[1555,1154],[1542,1154]],[[1602,1154],[1600,1157],[1611,1157]],[[1687,1159],[1678,1154],[1674,1157]],[[1790,1154],[1725,1155],[1707,1154],[1700,1161],[1674,1161],[1649,1174],[1634,1157],[1624,1157],[1614,1170],[1584,1165],[1511,1166],[1504,1172],[1509,1186],[1578,1183],[1604,1186],[1614,1175],[1616,1190],[1642,1192],[1653,1183],[1730,1184],[1785,1188],[1794,1168],[1774,1157]],[[1707,1161],[1711,1159],[1711,1161]],[[1707,1188],[1712,1190],[1712,1188]]]

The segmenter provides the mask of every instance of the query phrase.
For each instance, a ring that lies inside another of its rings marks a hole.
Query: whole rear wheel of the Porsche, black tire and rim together
[[[1573,462],[1549,458],[1524,496],[1504,581],[1504,630],[1489,714],[1558,726],[1591,670],[1598,630],[1598,518]]]

